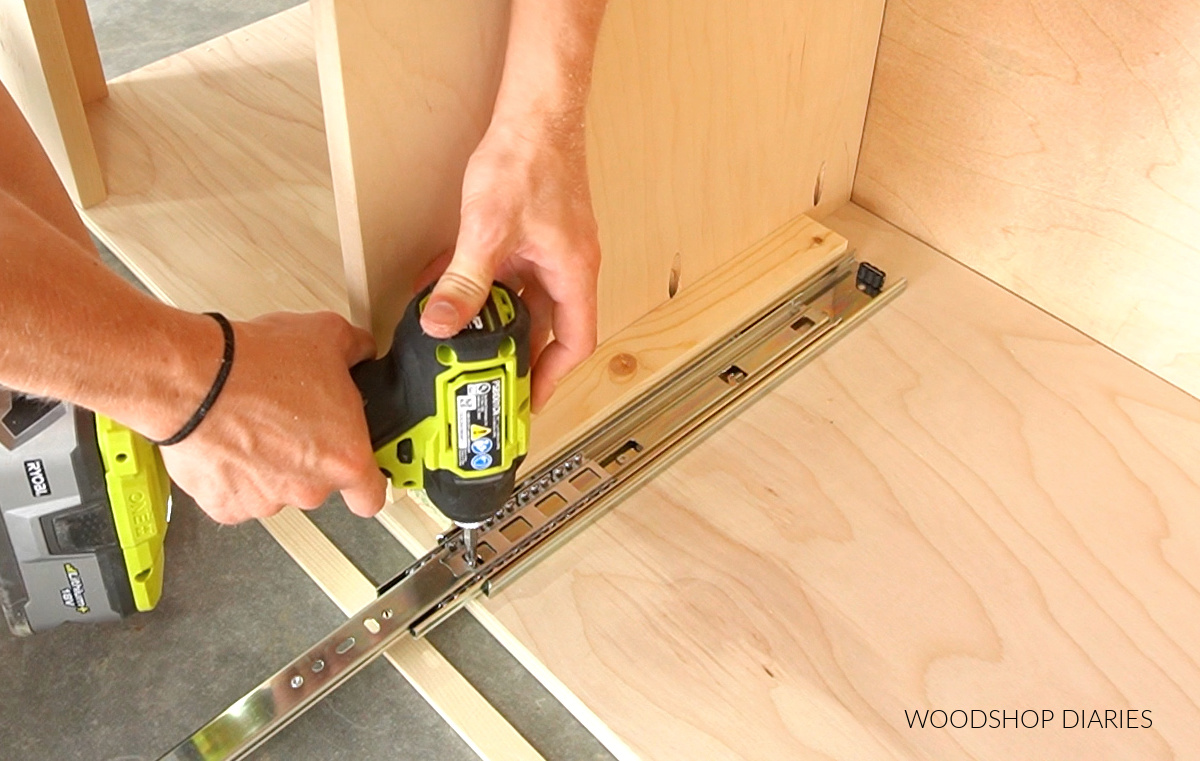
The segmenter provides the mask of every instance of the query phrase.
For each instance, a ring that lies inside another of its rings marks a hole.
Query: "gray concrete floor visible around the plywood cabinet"
[[[89,0],[108,77],[295,5],[294,0]],[[108,252],[114,268],[132,280]],[[374,581],[410,558],[332,501],[317,525]],[[186,498],[156,611],[17,639],[0,627],[0,757],[155,759],[343,621],[257,523],[220,527]],[[460,615],[433,643],[547,759],[611,756],[482,628]],[[384,661],[256,759],[446,761],[467,745]]]

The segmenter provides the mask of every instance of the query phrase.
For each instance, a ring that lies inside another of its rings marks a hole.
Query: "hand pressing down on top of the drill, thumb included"
[[[420,289],[440,275],[421,316],[439,338],[479,312],[493,280],[521,293],[532,317],[534,411],[596,343],[600,242],[583,143],[582,114],[493,121],[463,176],[455,250],[418,278]]]

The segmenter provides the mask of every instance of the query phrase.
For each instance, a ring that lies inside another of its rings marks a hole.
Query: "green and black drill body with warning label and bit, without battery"
[[[463,529],[475,562],[479,526],[511,496],[529,451],[529,312],[494,283],[451,338],[420,326],[426,288],[404,310],[389,352],[356,365],[371,445],[398,489],[424,489]]]

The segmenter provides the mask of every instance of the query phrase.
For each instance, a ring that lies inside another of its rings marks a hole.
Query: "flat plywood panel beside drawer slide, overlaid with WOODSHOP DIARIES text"
[[[1200,402],[827,223],[910,289],[487,607],[646,759],[1187,757]],[[935,708],[1054,721],[908,729]],[[1153,725],[1062,729],[1129,708]]]

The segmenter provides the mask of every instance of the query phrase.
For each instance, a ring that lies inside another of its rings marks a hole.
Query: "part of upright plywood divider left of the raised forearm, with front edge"
[[[380,347],[454,244],[491,118],[508,2],[312,0],[350,314]]]

